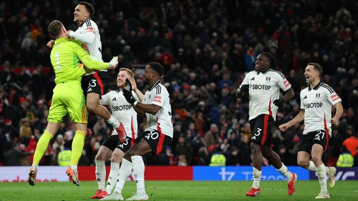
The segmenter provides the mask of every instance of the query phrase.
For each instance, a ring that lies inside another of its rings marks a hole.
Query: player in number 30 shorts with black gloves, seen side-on
[[[144,99],[142,99],[142,94],[137,93],[138,90],[135,91],[138,98],[142,100],[141,103],[133,97],[129,80],[126,82],[126,89],[122,90],[128,103],[146,113],[148,127],[138,135],[133,146],[125,153],[114,192],[101,200],[119,200],[122,198],[122,188],[131,174],[132,168],[137,183],[137,192],[127,200],[149,200],[144,189],[144,162],[142,156],[148,153],[152,153],[154,156],[158,155],[163,147],[166,147],[173,139],[169,93],[160,84],[160,77],[163,73],[163,67],[159,63],[152,62],[145,67],[143,82],[149,88],[144,95]]]

